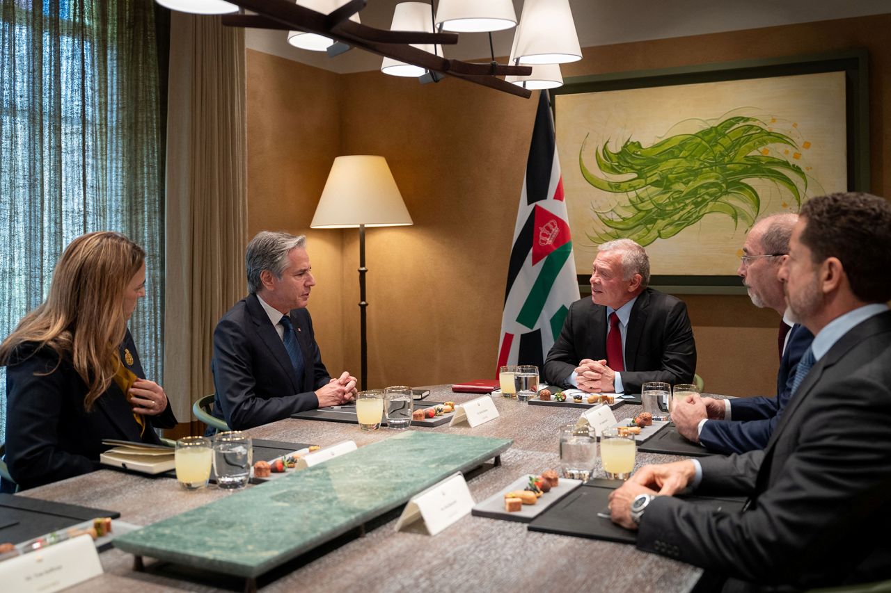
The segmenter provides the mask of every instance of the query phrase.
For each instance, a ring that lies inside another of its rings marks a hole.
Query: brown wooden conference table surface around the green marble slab
[[[478,395],[455,394],[450,386],[431,386],[428,400],[466,402]],[[486,464],[468,476],[477,502],[503,490],[524,474],[560,467],[560,426],[574,423],[577,408],[529,405],[494,397],[499,417],[470,426],[412,427],[454,435],[512,439],[500,465]],[[639,405],[625,403],[614,410],[617,420],[632,418]],[[360,448],[395,435],[381,427],[361,431],[354,424],[289,418],[247,431],[257,439],[313,443],[322,447],[352,440]],[[635,468],[664,463],[677,456],[638,452]],[[419,459],[419,463],[422,462]],[[598,460],[594,476],[603,476]],[[386,479],[386,476],[382,476]],[[248,488],[263,488],[262,484]],[[183,491],[167,477],[145,477],[110,469],[24,491],[20,496],[119,511],[120,520],[148,525],[238,493],[211,485]],[[250,513],[250,508],[244,508]],[[265,591],[510,591],[634,590],[689,591],[702,571],[634,546],[604,540],[527,531],[527,524],[479,516],[464,516],[445,531],[430,536],[419,530],[396,532],[398,512],[368,524],[363,535],[347,533],[299,556],[257,579]],[[276,528],[269,517],[269,529]],[[241,590],[244,581],[188,566],[146,558],[135,570],[134,556],[110,549],[100,555],[104,574],[73,591],[216,591]]]

